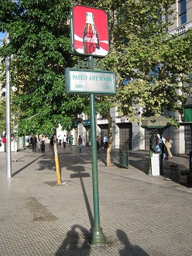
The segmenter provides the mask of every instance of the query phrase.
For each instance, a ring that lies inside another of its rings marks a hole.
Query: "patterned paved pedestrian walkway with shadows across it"
[[[192,255],[192,188],[164,178],[170,164],[189,168],[189,157],[163,162],[164,176],[146,175],[149,152],[129,152],[129,168],[112,167],[98,152],[100,224],[105,246],[90,246],[94,225],[91,147],[59,147],[63,185],[56,185],[53,149],[12,153],[12,178],[0,153],[0,255]]]

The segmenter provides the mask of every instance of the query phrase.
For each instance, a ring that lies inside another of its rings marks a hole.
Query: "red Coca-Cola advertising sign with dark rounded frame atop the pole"
[[[104,10],[76,5],[71,11],[70,26],[75,55],[100,58],[108,55],[108,17]]]

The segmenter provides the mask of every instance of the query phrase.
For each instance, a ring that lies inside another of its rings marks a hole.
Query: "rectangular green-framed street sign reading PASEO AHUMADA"
[[[115,95],[115,72],[67,67],[65,91],[69,94]]]

